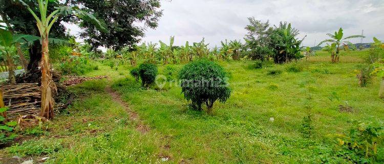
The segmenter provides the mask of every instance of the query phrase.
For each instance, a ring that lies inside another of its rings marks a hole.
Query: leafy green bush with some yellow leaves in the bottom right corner
[[[376,163],[378,149],[384,141],[382,122],[358,122],[347,136],[337,138],[337,155],[353,163]]]

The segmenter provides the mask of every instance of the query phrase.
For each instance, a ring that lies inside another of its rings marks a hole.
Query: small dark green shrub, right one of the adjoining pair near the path
[[[154,64],[141,64],[139,66],[141,86],[148,87],[155,82],[157,67]]]

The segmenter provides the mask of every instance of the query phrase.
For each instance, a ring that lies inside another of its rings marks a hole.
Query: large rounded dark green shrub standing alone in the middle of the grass
[[[195,110],[202,110],[205,103],[208,112],[216,100],[225,102],[229,98],[231,91],[226,78],[223,67],[206,59],[193,61],[179,72],[184,97],[191,100],[191,106]]]

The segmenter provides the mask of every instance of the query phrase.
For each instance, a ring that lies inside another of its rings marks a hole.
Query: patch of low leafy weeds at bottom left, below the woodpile
[[[22,145],[16,144],[8,148],[8,152],[20,156],[39,156],[47,155],[63,149],[61,139],[52,138],[49,140],[29,140]]]

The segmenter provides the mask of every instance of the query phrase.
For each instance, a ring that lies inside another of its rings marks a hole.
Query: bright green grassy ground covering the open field
[[[49,163],[320,163],[332,156],[333,136],[347,133],[354,120],[384,117],[379,80],[366,88],[357,85],[354,70],[364,53],[352,52],[331,64],[319,52],[310,62],[296,64],[300,72],[288,72],[292,64],[252,69],[252,61],[221,61],[232,94],[226,103],[216,103],[211,114],[188,109],[178,86],[143,89],[129,75],[131,67],[98,64],[99,70],[88,75],[109,75],[109,80],[73,87],[80,98],[68,109],[70,115],[57,116],[45,135],[2,152],[49,156]],[[270,70],[282,73],[269,75]],[[106,86],[121,94],[149,131],[136,130],[138,121],[129,119]],[[309,95],[311,138],[302,133]],[[339,105],[353,111],[340,111]]]

